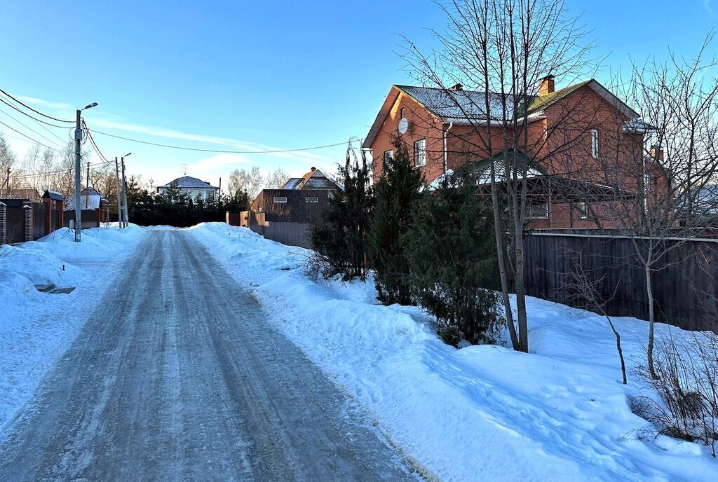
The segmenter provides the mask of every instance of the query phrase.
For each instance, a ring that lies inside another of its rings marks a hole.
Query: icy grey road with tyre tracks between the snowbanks
[[[189,234],[115,283],[0,434],[0,480],[416,480]]]

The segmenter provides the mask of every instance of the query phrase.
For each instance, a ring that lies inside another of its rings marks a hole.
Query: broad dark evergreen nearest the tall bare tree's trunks
[[[449,344],[491,341],[502,320],[488,202],[469,171],[444,176],[439,189],[422,193],[404,235],[416,296]]]

